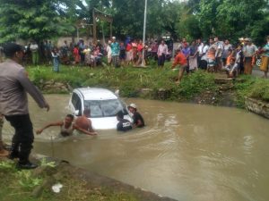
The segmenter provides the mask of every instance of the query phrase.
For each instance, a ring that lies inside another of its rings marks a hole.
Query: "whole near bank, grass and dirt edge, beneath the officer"
[[[26,171],[17,170],[13,161],[0,157],[0,200],[174,201],[65,161],[33,156],[39,167]]]

